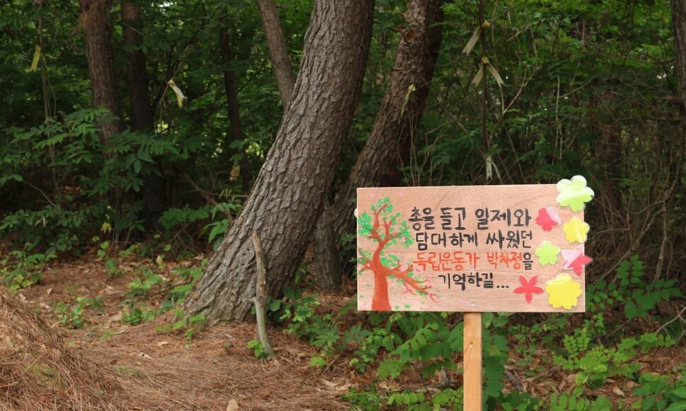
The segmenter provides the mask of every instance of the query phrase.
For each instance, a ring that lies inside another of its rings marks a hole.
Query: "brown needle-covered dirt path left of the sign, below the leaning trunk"
[[[269,330],[277,360],[267,362],[246,347],[255,338],[251,324],[204,328],[189,339],[183,330],[162,330],[172,312],[139,326],[122,323],[122,302],[134,277],[108,278],[102,267],[95,258],[55,264],[40,284],[21,290],[20,298],[40,311],[67,347],[121,384],[130,409],[349,409],[338,398],[347,392],[347,376],[335,367],[325,374],[310,367],[312,348],[281,330]],[[168,275],[173,281],[171,268]],[[103,311],[87,308],[82,328],[62,326],[55,307],[73,306],[78,297],[103,297]],[[161,299],[154,293],[145,298],[139,303],[151,307]]]

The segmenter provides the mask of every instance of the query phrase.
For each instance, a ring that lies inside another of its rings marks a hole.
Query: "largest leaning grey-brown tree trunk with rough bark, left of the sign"
[[[356,107],[374,2],[315,0],[291,102],[248,200],[185,308],[211,323],[243,320],[255,295],[252,231],[276,295],[298,268],[330,191]]]

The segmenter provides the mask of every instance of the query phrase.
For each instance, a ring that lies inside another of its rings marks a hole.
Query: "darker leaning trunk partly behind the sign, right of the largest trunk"
[[[419,119],[429,96],[429,82],[441,47],[443,12],[437,0],[408,0],[405,11],[405,28],[398,43],[395,66],[390,76],[388,90],[381,101],[376,120],[367,142],[357,157],[347,182],[337,192],[330,210],[332,216],[324,215],[318,222],[317,232],[330,232],[327,222],[335,224],[337,236],[354,232],[354,199],[357,187],[397,186],[402,175],[398,167],[407,164],[410,139],[417,132]],[[411,91],[414,89],[414,91]],[[337,236],[333,236],[335,241]],[[320,285],[328,287],[340,280],[326,278],[339,276],[327,261],[332,253],[326,250],[336,247],[330,237],[320,237],[315,243],[315,266],[328,267],[318,272]],[[328,243],[323,243],[328,241]],[[337,258],[337,256],[334,256]],[[343,258],[346,262],[347,258]],[[324,278],[322,278],[322,276]]]

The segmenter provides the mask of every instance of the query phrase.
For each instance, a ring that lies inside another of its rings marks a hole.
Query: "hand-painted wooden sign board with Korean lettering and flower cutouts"
[[[358,189],[358,309],[583,312],[591,198],[581,176]]]

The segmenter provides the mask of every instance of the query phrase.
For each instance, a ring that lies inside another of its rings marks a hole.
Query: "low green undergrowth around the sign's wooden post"
[[[649,282],[638,256],[620,263],[615,274],[612,281],[587,285],[588,312],[580,324],[569,314],[518,320],[511,314],[483,314],[484,410],[686,410],[685,364],[658,374],[644,362],[644,356],[675,345],[683,332],[680,325],[659,333],[624,328],[639,320],[665,323],[670,318],[660,304],[682,293],[674,280]],[[310,359],[313,367],[347,359],[351,372],[373,375],[371,385],[342,396],[353,409],[462,408],[462,369],[457,365],[463,351],[461,315],[369,312],[364,321],[346,327],[355,308],[353,300],[336,312],[327,311],[317,294],[293,287],[285,287],[284,298],[269,304],[272,321],[317,347]],[[259,357],[260,347],[251,348]],[[506,373],[506,367],[512,371]],[[542,373],[573,383],[538,398],[511,388]],[[404,386],[417,377],[419,386]],[[612,403],[598,394],[608,390],[627,400]]]

